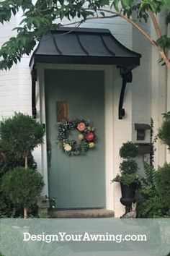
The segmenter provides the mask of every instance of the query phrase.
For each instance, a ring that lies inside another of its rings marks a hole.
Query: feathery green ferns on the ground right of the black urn
[[[146,178],[142,179],[137,191],[138,218],[170,218],[170,208],[156,187],[157,171],[144,162]],[[160,175],[161,176],[161,175]]]

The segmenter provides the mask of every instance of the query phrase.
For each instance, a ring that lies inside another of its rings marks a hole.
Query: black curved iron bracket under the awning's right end
[[[120,69],[120,75],[122,77],[122,89],[120,92],[119,119],[122,119],[122,117],[125,116],[125,108],[122,108],[124,95],[125,95],[125,89],[126,89],[127,82],[133,81],[133,73],[131,70]]]

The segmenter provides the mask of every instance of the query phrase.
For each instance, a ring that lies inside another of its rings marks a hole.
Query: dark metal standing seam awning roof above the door
[[[106,29],[61,27],[42,35],[32,54],[30,66],[37,63],[115,64],[134,69],[140,54],[123,46]]]

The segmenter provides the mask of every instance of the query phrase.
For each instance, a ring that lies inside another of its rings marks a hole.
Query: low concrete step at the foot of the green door
[[[76,210],[53,210],[53,218],[113,218],[113,210],[106,209],[76,209]]]

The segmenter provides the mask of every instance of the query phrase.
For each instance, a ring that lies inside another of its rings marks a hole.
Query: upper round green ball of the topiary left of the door
[[[43,142],[44,128],[42,124],[22,113],[4,119],[0,123],[1,150],[10,152],[15,158],[27,158],[30,152]]]

